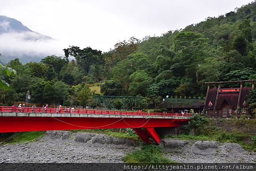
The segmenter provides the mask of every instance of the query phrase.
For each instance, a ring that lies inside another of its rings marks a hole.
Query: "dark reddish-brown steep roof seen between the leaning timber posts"
[[[236,88],[239,89],[239,88]],[[210,89],[208,98],[206,99],[206,109],[213,109],[215,104],[215,99],[217,96],[217,90],[218,89]],[[241,92],[241,99],[240,99],[240,107],[247,107],[246,104],[244,104],[244,101],[248,100],[247,95],[249,94],[249,91],[251,90],[251,87],[243,87]],[[228,92],[228,93],[219,93],[218,95],[218,103],[216,106],[216,109],[221,109],[221,106],[224,104],[230,105],[233,109],[236,109],[239,92]]]

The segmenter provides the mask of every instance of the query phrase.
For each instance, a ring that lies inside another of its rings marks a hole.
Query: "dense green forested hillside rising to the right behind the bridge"
[[[256,79],[256,3],[159,37],[132,37],[109,52],[70,46],[64,53],[41,63],[11,61],[18,72],[9,80],[13,98],[24,99],[30,90],[38,103],[87,103],[86,84],[95,83],[104,95],[143,96],[148,104],[166,95],[203,98],[206,81]]]

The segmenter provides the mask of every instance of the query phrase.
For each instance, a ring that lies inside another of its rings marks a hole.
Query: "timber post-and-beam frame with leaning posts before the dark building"
[[[214,108],[213,108],[213,113],[215,113],[216,110],[216,106],[217,106],[217,102],[218,102],[218,95],[219,95],[219,90],[221,88],[221,84],[226,84],[226,83],[240,83],[240,90],[239,90],[239,96],[238,96],[238,101],[237,101],[237,107],[236,107],[236,114],[238,113],[239,109],[240,109],[240,99],[241,99],[241,93],[242,93],[242,88],[243,88],[243,82],[251,82],[252,83],[252,89],[254,89],[254,83],[256,82],[256,80],[240,80],[240,81],[218,81],[218,82],[205,82],[204,84],[207,84],[207,93],[206,93],[206,97],[205,97],[205,101],[204,101],[204,109],[202,111],[202,113],[204,114],[205,111],[205,107],[206,107],[206,101],[209,95],[209,90],[210,90],[210,84],[218,84],[218,90],[217,90],[217,95],[216,95],[216,99],[215,99],[215,104],[214,104]]]

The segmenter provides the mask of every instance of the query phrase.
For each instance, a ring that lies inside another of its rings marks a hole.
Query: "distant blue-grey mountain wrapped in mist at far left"
[[[15,58],[19,58],[23,63],[39,62],[45,53],[35,51],[42,49],[42,43],[49,41],[53,39],[32,31],[14,18],[0,15],[1,62],[8,63]],[[38,43],[41,43],[41,46],[37,46]]]

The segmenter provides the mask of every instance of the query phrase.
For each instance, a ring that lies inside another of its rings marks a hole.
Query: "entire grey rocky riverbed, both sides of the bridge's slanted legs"
[[[0,162],[122,162],[140,149],[131,139],[96,133],[47,131],[35,141],[0,146]],[[256,162],[239,144],[163,139],[164,156],[177,162]]]

